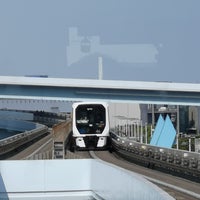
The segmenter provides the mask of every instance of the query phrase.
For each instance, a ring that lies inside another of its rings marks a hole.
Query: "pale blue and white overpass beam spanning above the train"
[[[200,105],[200,84],[0,76],[0,99]]]

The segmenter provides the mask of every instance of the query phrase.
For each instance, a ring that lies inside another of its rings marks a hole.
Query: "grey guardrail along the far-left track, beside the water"
[[[41,125],[39,128],[25,131],[14,136],[0,140],[0,155],[4,155],[18,147],[36,139],[48,132],[48,127]]]

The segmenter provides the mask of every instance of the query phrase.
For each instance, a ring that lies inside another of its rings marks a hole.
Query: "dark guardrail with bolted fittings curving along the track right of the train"
[[[112,148],[129,161],[200,181],[200,153],[162,148],[111,133]]]

